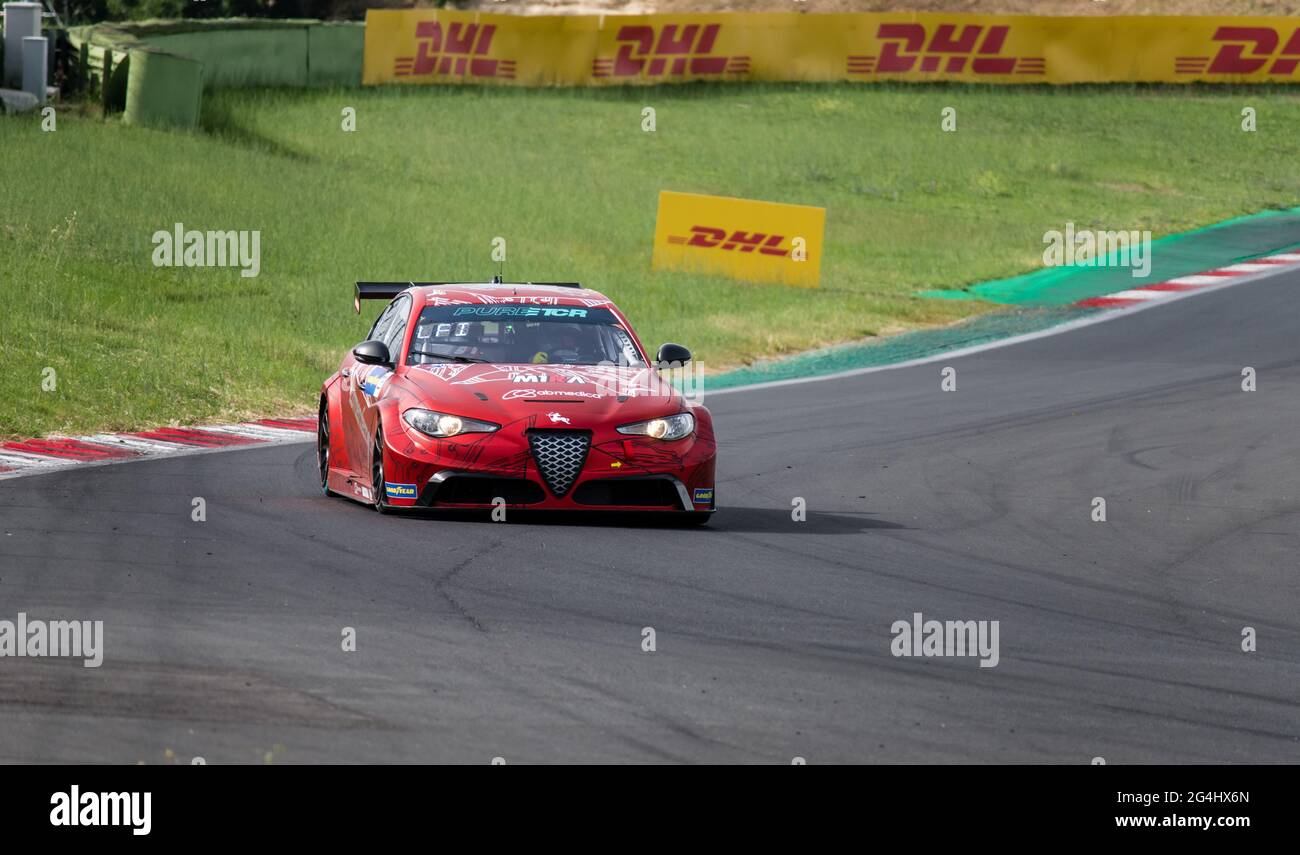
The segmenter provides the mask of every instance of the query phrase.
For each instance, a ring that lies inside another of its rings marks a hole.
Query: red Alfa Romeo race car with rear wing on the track
[[[321,389],[321,489],[394,508],[714,512],[708,411],[576,283],[358,282],[391,300]]]

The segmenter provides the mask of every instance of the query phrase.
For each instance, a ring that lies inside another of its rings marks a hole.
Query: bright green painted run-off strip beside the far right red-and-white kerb
[[[1069,305],[1297,246],[1300,208],[1265,211],[1153,240],[1150,275],[1145,278],[1135,278],[1130,268],[1044,268],[962,290],[923,291],[922,296],[1008,305]]]

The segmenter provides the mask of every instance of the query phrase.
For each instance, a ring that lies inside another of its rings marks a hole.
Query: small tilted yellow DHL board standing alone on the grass
[[[651,264],[815,288],[824,229],[826,208],[664,190]]]

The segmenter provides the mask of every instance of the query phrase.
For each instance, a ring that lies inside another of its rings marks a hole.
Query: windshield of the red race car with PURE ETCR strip
[[[572,305],[430,305],[408,365],[430,363],[645,365],[608,309]]]

